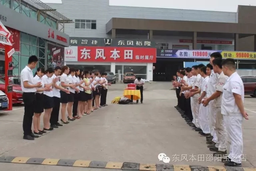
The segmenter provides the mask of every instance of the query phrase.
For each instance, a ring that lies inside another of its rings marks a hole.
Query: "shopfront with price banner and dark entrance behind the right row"
[[[176,71],[186,66],[185,62],[209,62],[213,52],[220,52],[224,59],[233,58],[237,69],[256,69],[256,52],[158,49],[153,80],[171,81]]]

